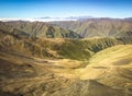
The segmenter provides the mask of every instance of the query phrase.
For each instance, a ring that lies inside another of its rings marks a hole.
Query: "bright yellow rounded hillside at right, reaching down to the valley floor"
[[[132,46],[119,45],[97,52],[80,72],[85,79],[101,79],[107,73],[117,74],[118,69],[128,68],[132,68]]]

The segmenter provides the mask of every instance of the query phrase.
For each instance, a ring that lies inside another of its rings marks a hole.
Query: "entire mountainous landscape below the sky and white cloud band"
[[[131,96],[131,19],[0,22],[0,96]]]

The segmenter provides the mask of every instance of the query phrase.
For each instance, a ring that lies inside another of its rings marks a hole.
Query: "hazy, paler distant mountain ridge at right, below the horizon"
[[[72,29],[81,37],[131,37],[131,19],[86,19],[80,21],[50,22],[50,24]]]

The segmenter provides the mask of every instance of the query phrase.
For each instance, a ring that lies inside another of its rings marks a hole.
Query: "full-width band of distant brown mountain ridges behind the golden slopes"
[[[41,17],[43,20],[43,17]],[[44,17],[51,19],[51,17]],[[110,19],[72,16],[77,21],[29,22],[10,21],[3,25],[13,27],[14,33],[24,32],[36,37],[88,38],[88,37],[131,37],[132,19]],[[59,19],[58,19],[59,20]],[[54,33],[55,32],[55,33]],[[65,33],[65,34],[64,34]]]

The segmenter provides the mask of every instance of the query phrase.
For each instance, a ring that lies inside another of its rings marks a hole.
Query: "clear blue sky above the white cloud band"
[[[132,0],[0,0],[0,19],[132,17]]]

